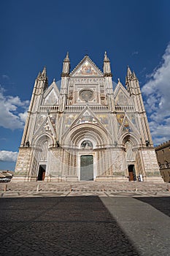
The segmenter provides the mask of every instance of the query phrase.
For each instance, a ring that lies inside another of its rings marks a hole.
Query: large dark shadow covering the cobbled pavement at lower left
[[[97,196],[0,199],[2,255],[139,255]]]

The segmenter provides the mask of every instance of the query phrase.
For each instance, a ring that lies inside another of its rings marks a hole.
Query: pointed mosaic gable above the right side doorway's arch
[[[139,136],[139,132],[136,129],[136,127],[134,126],[134,124],[131,122],[131,120],[128,118],[127,114],[125,113],[122,124],[120,126],[120,130],[118,133],[118,138],[120,138],[120,136],[125,133],[125,132],[131,132],[136,134],[137,136]]]

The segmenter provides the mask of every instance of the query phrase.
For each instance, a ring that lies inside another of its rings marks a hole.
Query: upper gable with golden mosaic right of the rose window
[[[115,105],[118,106],[125,106],[125,105],[131,105],[131,99],[128,95],[128,91],[125,90],[122,83],[117,83],[117,86],[114,91],[115,94]]]

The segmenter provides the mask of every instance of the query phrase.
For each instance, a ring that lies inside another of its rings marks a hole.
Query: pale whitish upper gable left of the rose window
[[[54,80],[45,91],[43,105],[58,105],[59,94],[60,92]]]

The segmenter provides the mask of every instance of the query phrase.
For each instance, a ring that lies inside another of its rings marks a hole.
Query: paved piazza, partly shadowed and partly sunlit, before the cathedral
[[[170,255],[167,189],[14,187],[1,187],[0,255]]]

